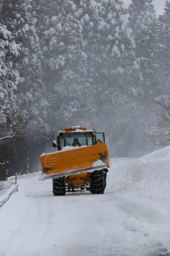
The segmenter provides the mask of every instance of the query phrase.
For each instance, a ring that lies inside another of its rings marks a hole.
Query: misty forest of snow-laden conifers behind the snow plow
[[[170,1],[158,16],[152,0],[0,0],[0,171],[39,170],[72,125],[105,132],[113,157],[150,152],[169,56]]]

